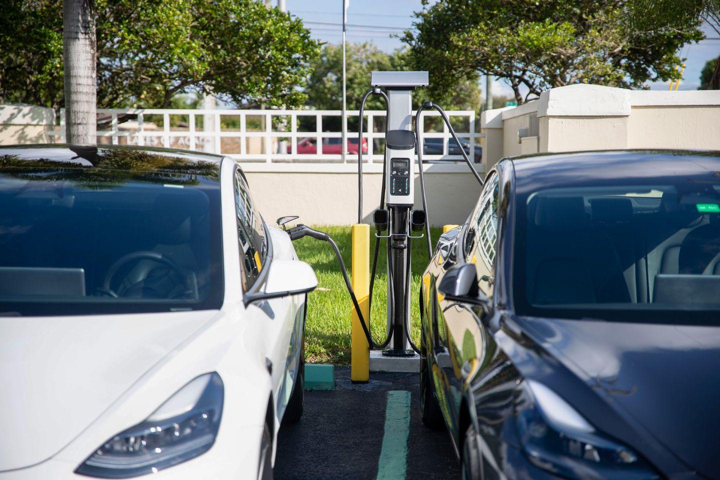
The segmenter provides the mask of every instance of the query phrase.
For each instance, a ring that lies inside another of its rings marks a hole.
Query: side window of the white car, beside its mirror
[[[247,291],[263,268],[267,245],[262,219],[253,204],[245,176],[239,169],[235,171],[235,214],[238,221],[243,290]]]

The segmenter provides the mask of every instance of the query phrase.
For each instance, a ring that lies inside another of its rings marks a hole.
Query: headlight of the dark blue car
[[[547,386],[526,380],[516,394],[523,450],[536,466],[570,479],[649,480],[657,472],[631,448],[595,430]]]

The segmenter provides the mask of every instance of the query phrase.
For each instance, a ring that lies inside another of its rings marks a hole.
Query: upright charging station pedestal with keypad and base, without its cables
[[[428,85],[426,71],[374,71],[371,86],[387,91],[387,137],[385,139],[385,198],[389,219],[387,325],[390,345],[370,353],[371,371],[419,371],[420,356],[410,349],[405,328],[410,325],[410,230],[415,204],[415,134],[413,90]],[[424,214],[424,213],[423,213]],[[424,218],[424,217],[423,217]]]

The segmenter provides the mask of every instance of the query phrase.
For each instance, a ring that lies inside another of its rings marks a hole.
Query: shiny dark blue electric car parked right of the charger
[[[463,478],[720,479],[719,152],[502,160],[420,312]]]

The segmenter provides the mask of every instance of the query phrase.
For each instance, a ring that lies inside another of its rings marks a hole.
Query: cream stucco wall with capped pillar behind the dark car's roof
[[[531,132],[532,115],[538,131]],[[486,165],[537,151],[622,148],[720,150],[720,91],[631,91],[577,84],[544,91],[536,101],[483,113]],[[518,143],[518,129],[528,128]],[[535,139],[534,136],[538,138]],[[494,145],[493,145],[493,142]],[[495,158],[497,157],[497,158]]]

